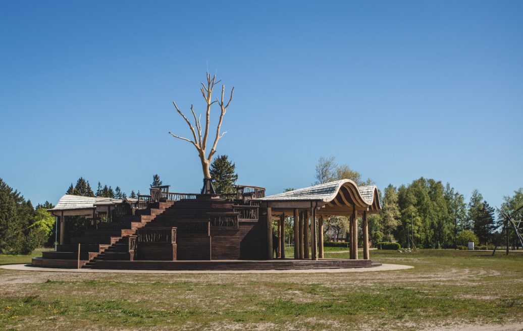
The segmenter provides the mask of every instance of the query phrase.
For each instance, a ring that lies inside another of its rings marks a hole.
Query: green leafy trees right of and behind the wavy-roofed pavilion
[[[373,184],[348,165],[339,165],[335,157],[321,157],[316,165],[313,184],[348,178],[358,186]],[[424,248],[454,248],[473,241],[475,244],[495,244],[504,219],[496,213],[478,190],[473,190],[468,203],[448,182],[420,177],[410,184],[386,186],[380,192],[382,209],[369,216],[369,237],[373,243],[399,242],[402,246]],[[514,214],[523,206],[523,188],[505,196],[500,210]],[[497,216],[497,220],[496,220]],[[346,236],[348,218],[336,216],[325,221],[326,239]],[[361,224],[361,222],[360,222]],[[361,231],[361,229],[359,229]],[[359,236],[361,237],[361,236]],[[510,243],[517,246],[516,234],[509,229]]]

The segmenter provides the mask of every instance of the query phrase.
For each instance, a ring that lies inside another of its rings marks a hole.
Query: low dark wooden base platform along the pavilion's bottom
[[[33,258],[35,267],[51,267],[50,261]],[[54,260],[53,262],[59,262]],[[54,267],[69,267],[57,264]],[[293,270],[293,269],[340,269],[340,268],[371,268],[381,266],[371,260],[350,259],[274,259],[274,260],[185,260],[185,261],[117,261],[101,260],[94,266],[84,266],[91,269],[108,270]]]

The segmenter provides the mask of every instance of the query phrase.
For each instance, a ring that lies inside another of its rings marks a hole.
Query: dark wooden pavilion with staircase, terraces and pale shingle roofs
[[[151,188],[138,199],[65,195],[49,211],[57,217],[59,245],[32,264],[99,269],[225,270],[371,267],[368,214],[380,210],[376,186],[349,179],[265,196],[265,189],[236,186],[230,194],[173,193]],[[92,220],[83,234],[66,232],[67,216]],[[323,221],[350,217],[350,256],[325,259]],[[358,258],[362,217],[363,259]],[[285,256],[287,216],[294,220],[294,258]],[[278,253],[273,259],[273,222]],[[310,250],[309,250],[310,247]]]

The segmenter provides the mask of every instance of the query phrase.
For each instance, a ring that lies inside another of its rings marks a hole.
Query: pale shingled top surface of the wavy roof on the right
[[[292,190],[288,192],[282,192],[276,195],[267,196],[265,198],[257,199],[259,201],[332,201],[340,187],[344,184],[351,184],[358,189],[360,193],[360,200],[368,205],[373,203],[374,190],[377,190],[376,185],[366,185],[358,187],[356,183],[350,179],[340,179],[328,182],[326,184],[319,184]]]

